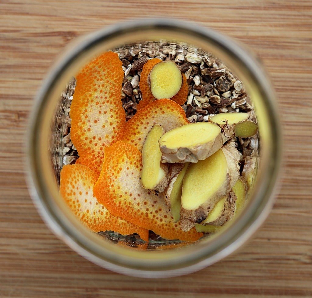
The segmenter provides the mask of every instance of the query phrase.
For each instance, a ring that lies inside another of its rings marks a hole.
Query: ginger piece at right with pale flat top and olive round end
[[[209,116],[208,120],[218,124],[228,139],[234,136],[249,138],[258,131],[258,125],[254,121],[248,120],[250,115],[250,113],[220,113]]]

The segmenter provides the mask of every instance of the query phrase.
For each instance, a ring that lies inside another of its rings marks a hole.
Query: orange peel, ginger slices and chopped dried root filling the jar
[[[258,125],[222,63],[174,45],[110,51],[70,85],[60,192],[91,231],[193,242],[243,208]]]

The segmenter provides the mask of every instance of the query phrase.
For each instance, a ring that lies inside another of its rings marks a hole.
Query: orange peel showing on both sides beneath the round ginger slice
[[[149,89],[148,76],[153,67],[160,62],[162,62],[162,60],[154,58],[148,60],[143,66],[139,82],[139,86],[142,92],[142,100],[137,105],[137,111],[144,108],[144,106],[147,106],[148,104],[150,104],[155,100],[155,97],[153,96],[152,92]],[[184,73],[182,73],[182,78],[183,83],[180,91],[171,98],[171,100],[177,102],[179,105],[183,105],[188,97],[188,82]]]

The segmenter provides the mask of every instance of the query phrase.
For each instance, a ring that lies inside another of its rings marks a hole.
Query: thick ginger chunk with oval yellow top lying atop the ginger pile
[[[197,163],[219,150],[226,137],[213,123],[197,122],[166,132],[159,140],[163,163]]]

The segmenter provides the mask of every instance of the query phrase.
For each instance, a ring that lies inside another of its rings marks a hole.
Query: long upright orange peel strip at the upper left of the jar
[[[80,163],[100,175],[104,148],[119,140],[126,122],[121,102],[124,79],[118,54],[106,52],[76,76],[71,102],[71,141]]]

